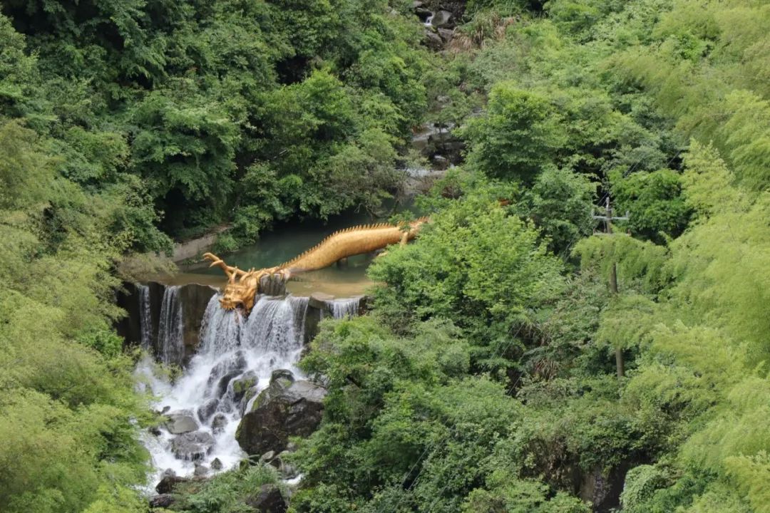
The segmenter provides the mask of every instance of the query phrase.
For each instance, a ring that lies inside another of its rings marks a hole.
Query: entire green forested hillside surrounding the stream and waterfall
[[[462,162],[300,363],[290,511],[770,513],[768,2],[0,5],[0,510],[147,510],[122,260],[377,210],[432,122]]]

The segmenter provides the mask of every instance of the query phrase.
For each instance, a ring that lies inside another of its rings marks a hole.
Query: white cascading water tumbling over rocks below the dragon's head
[[[248,399],[250,407],[276,369],[301,375],[294,364],[303,348],[308,298],[260,296],[249,318],[244,318],[238,311],[221,308],[220,297],[209,301],[199,351],[175,383],[156,375],[152,358],[137,367],[140,381],[157,398],[156,407],[167,408],[172,419],[182,418],[166,424],[159,435],[146,437],[156,469],[153,484],[168,468],[184,476],[196,471],[196,465],[212,467],[215,460],[222,469],[236,465],[244,456],[235,439],[243,411],[248,411],[244,401]],[[163,301],[166,305],[165,297]],[[167,316],[172,309],[169,299]],[[248,383],[252,394],[244,398],[243,388],[234,388],[236,382]]]

